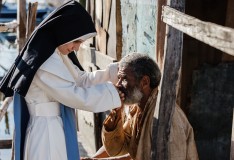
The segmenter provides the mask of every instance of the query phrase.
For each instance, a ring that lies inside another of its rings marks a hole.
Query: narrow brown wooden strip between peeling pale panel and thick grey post
[[[162,21],[162,6],[166,5],[166,3],[167,0],[157,1],[156,60],[161,71],[163,68],[164,44],[166,34],[166,24]]]

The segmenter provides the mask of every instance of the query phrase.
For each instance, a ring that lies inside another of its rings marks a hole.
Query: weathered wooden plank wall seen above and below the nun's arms
[[[122,55],[120,0],[87,0],[86,10],[95,23],[97,36],[93,41],[89,41],[89,44],[85,43],[80,47],[78,58],[86,71],[104,69]],[[85,136],[91,139],[91,148],[95,153],[102,145],[100,133],[103,116],[85,111],[78,111],[77,114],[78,128],[81,132],[89,132],[88,136]],[[86,117],[89,117],[89,120]]]

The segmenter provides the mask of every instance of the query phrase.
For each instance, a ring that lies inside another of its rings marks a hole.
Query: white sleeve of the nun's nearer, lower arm
[[[40,69],[34,82],[46,94],[72,108],[103,112],[121,106],[119,94],[110,82],[78,87],[75,82]]]

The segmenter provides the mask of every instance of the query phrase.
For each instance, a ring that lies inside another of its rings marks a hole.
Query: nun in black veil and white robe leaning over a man
[[[38,25],[0,82],[14,99],[16,160],[80,159],[74,109],[121,106],[117,64],[84,72],[73,52],[95,35],[90,15],[68,1]]]

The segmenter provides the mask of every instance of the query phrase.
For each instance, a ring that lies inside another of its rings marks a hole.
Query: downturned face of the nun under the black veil
[[[68,53],[71,53],[72,51],[78,51],[81,43],[82,43],[81,41],[69,42],[69,43],[58,46],[58,50],[60,53],[67,55]]]

